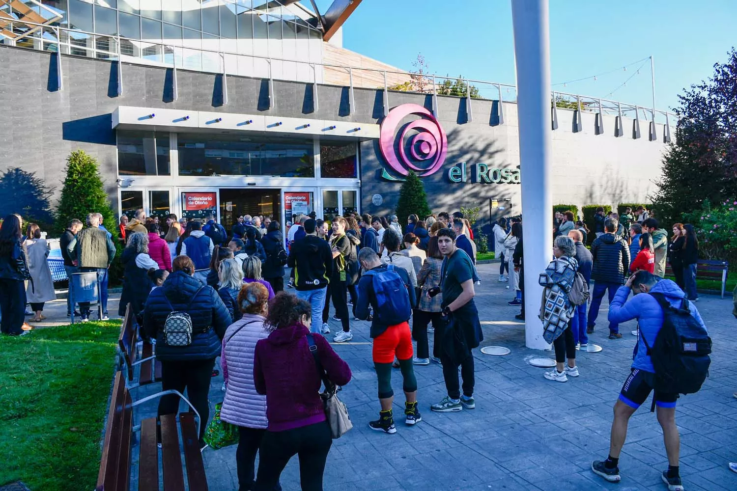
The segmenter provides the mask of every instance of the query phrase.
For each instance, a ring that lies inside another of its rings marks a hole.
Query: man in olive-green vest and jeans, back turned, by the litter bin
[[[77,266],[80,272],[97,272],[99,283],[99,303],[102,313],[100,320],[108,320],[108,268],[115,257],[115,244],[105,230],[99,228],[99,216],[97,213],[88,213],[87,228],[77,233]],[[89,320],[89,302],[80,302],[80,313],[82,322]]]

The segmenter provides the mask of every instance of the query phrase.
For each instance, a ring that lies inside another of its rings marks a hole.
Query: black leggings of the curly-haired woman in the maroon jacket
[[[254,490],[274,490],[287,462],[297,454],[302,491],[322,491],[325,461],[331,445],[326,422],[293,430],[266,431],[259,448],[259,472]]]

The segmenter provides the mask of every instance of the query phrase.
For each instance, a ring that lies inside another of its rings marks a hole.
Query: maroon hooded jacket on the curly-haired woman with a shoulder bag
[[[302,324],[278,328],[256,343],[254,386],[266,395],[269,431],[285,431],[325,421],[320,398],[321,376],[310,352]],[[351,369],[320,334],[312,334],[317,356],[327,378],[343,386],[351,381]],[[158,351],[158,347],[156,347]]]

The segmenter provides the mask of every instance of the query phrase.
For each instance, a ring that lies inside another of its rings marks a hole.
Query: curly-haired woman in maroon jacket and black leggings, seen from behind
[[[322,491],[325,461],[332,445],[319,391],[321,375],[310,352],[307,334],[310,304],[280,292],[270,302],[265,329],[268,338],[256,343],[254,385],[266,395],[268,428],[259,448],[256,490],[270,491],[287,462],[297,454],[302,491]],[[312,334],[327,378],[343,386],[351,369],[326,339]]]

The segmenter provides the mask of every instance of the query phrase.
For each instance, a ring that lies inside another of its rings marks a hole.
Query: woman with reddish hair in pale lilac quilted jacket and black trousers
[[[223,264],[228,261],[223,261]],[[264,330],[268,300],[269,292],[261,283],[242,286],[236,305],[242,312],[242,318],[226,331],[223,353],[220,355],[223,380],[226,382],[226,397],[220,409],[220,420],[238,427],[235,461],[240,490],[254,489],[256,453],[268,426],[266,396],[259,395],[254,386],[256,342],[269,334]]]

